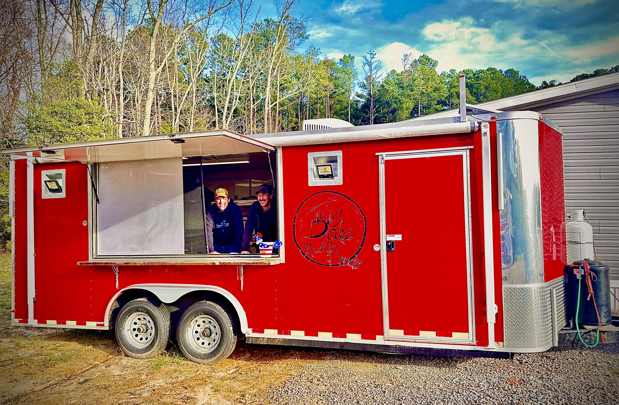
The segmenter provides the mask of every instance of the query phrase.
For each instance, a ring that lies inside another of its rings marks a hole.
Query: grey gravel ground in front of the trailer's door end
[[[514,360],[329,352],[271,391],[287,404],[619,404],[619,344]]]

